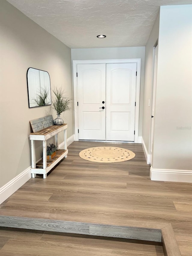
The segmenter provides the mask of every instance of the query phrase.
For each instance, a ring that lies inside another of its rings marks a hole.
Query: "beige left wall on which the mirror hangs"
[[[0,8],[0,187],[31,165],[29,120],[46,116],[51,108],[28,107],[29,67],[48,71],[51,87],[62,86],[72,97],[71,51],[5,0]],[[53,117],[56,117],[53,111]],[[73,113],[66,112],[67,137],[73,134]],[[61,137],[60,141],[61,143]],[[37,143],[37,159],[41,144]]]

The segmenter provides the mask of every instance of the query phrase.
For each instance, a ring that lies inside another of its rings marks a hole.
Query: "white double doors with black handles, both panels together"
[[[77,65],[79,140],[134,141],[137,63]]]

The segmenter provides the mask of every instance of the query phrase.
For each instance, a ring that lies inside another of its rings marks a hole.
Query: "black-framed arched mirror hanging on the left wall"
[[[28,68],[27,87],[29,107],[51,105],[51,84],[48,72]]]

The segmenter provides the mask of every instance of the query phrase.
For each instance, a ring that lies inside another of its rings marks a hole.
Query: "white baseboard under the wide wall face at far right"
[[[192,183],[192,170],[169,170],[150,168],[151,180],[190,182]]]

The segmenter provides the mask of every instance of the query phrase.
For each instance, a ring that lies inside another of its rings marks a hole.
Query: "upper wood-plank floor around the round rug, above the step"
[[[103,145],[130,149],[136,156],[111,164],[79,157],[81,150]],[[68,150],[46,179],[30,179],[1,204],[0,215],[123,226],[171,223],[182,255],[192,256],[191,183],[151,181],[141,144],[73,142]]]

